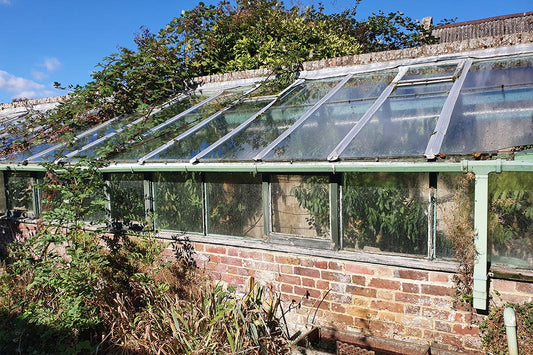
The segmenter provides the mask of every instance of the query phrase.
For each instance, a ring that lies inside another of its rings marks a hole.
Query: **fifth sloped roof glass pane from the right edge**
[[[221,113],[190,136],[179,141],[176,140],[173,145],[148,160],[188,160],[255,115],[271,100],[254,99],[243,101]]]

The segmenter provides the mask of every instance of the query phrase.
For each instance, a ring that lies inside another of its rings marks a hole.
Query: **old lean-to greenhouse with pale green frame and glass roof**
[[[533,269],[532,44],[306,70],[275,93],[264,80],[200,82],[5,154],[3,214],[38,217],[43,162],[106,157],[112,228],[438,270],[469,201],[474,307],[490,268]],[[32,118],[0,117],[3,130]]]

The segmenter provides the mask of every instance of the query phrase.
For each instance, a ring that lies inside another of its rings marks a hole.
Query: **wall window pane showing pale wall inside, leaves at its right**
[[[329,177],[274,175],[272,232],[330,239]]]

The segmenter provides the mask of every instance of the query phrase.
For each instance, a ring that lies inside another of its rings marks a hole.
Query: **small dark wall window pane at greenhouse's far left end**
[[[30,173],[7,173],[7,206],[15,217],[33,215],[33,179]]]

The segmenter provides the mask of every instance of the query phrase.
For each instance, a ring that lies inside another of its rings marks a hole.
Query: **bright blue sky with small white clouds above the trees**
[[[422,19],[433,16],[468,21],[532,11],[531,0],[362,0],[358,17],[373,12],[402,11]],[[217,1],[204,0],[206,4]],[[117,46],[134,49],[141,26],[157,32],[191,0],[0,0],[0,102],[64,94],[53,88],[85,84],[95,66]],[[318,4],[316,0],[285,0],[285,5]],[[326,12],[350,8],[355,1],[324,1]]]

